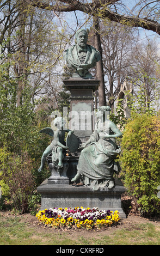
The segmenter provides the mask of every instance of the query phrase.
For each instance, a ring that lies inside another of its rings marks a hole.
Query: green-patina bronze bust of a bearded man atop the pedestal
[[[69,67],[75,68],[73,77],[92,78],[89,69],[101,59],[100,52],[87,44],[88,34],[85,29],[76,32],[76,45],[71,46],[65,52],[65,59]]]

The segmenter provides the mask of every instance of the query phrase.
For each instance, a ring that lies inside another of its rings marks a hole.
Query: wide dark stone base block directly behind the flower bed
[[[101,210],[119,211],[120,218],[126,218],[121,206],[121,194],[126,191],[119,180],[116,186],[109,190],[94,191],[86,186],[73,186],[69,184],[48,184],[45,180],[38,188],[41,193],[41,209],[56,208],[84,208],[98,207]]]

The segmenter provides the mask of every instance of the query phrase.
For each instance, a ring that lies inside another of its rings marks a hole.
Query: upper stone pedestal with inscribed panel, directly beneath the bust
[[[94,131],[94,92],[99,88],[100,81],[70,78],[63,83],[71,93],[69,129],[75,130],[79,143],[83,143]]]

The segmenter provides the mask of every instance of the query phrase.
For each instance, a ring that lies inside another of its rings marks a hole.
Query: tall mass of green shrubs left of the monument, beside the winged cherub
[[[50,138],[39,133],[48,125],[39,121],[27,84],[17,106],[19,79],[9,77],[7,69],[7,64],[0,66],[0,184],[2,196],[10,198],[16,210],[23,213],[30,207],[35,187],[48,175],[45,170],[39,174],[38,167]]]

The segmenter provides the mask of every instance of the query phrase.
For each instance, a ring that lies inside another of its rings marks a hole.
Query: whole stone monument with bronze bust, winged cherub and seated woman
[[[121,132],[106,119],[106,112],[110,110],[108,106],[100,107],[94,122],[93,93],[100,81],[91,76],[89,69],[100,60],[100,53],[87,45],[87,39],[87,32],[79,29],[76,45],[65,52],[67,65],[75,69],[72,77],[63,81],[71,93],[70,127],[63,130],[62,118],[55,119],[56,131],[48,127],[41,131],[53,136],[52,143],[42,155],[39,168],[40,171],[47,161],[51,170],[50,178],[38,187],[41,210],[98,207],[118,210],[120,217],[125,218],[121,207],[121,194],[125,188],[114,178],[114,174],[120,171],[115,160],[121,151],[115,138],[120,137]],[[66,142],[65,132],[68,133]]]

